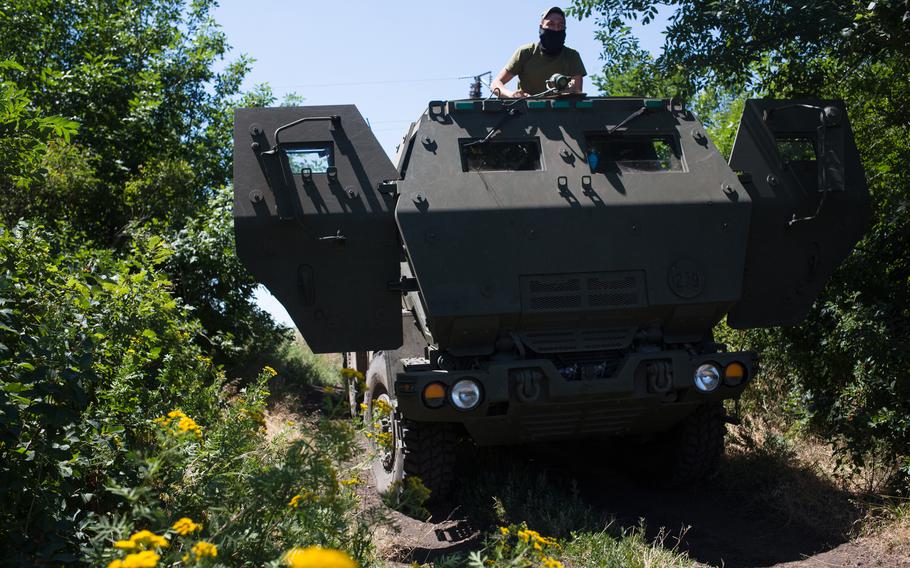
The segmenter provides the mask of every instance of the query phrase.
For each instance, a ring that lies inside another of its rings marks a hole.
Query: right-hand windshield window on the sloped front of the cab
[[[594,173],[684,171],[679,140],[674,136],[592,134],[587,142],[586,157]]]

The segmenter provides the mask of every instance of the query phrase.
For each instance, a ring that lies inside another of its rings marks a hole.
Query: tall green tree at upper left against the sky
[[[7,71],[28,86],[30,108],[79,126],[71,143],[34,155],[28,187],[0,186],[0,221],[58,226],[121,251],[137,232],[178,244],[177,257],[192,261],[169,263],[169,276],[205,336],[230,338],[216,341],[222,359],[236,360],[256,334],[276,338],[224,219],[233,108],[274,101],[264,88],[240,93],[248,58],[222,65],[229,47],[214,5],[0,0],[0,60],[15,61]]]

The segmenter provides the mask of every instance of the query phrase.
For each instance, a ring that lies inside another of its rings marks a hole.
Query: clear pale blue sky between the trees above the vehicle
[[[222,0],[213,16],[233,48],[228,59],[246,54],[255,60],[245,90],[268,83],[279,101],[294,93],[304,105],[355,104],[394,157],[428,101],[467,98],[471,79],[461,77],[498,73],[516,48],[537,40],[540,15],[551,6],[527,0]],[[632,29],[656,54],[665,26],[662,12],[655,23]],[[566,45],[581,54],[589,75],[598,73],[595,19],[569,18],[566,28]],[[590,81],[585,87],[596,94]],[[291,325],[261,287],[257,300]]]

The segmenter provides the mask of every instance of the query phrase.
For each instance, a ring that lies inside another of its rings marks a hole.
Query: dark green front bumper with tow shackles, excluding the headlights
[[[746,375],[739,384],[703,393],[692,378],[706,362],[721,368],[739,362]],[[551,361],[530,359],[493,363],[482,371],[404,372],[396,377],[395,391],[398,409],[408,419],[461,423],[478,444],[497,445],[665,431],[701,404],[739,396],[756,372],[752,352],[693,357],[686,351],[662,351],[629,354],[610,378],[570,381]],[[465,378],[482,387],[476,408],[424,404],[421,393],[428,384],[442,383],[448,392]]]

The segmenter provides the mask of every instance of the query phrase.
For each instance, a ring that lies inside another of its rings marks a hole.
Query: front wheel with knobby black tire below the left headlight
[[[384,400],[394,408],[393,390],[388,380],[385,354],[377,354],[370,362],[367,374],[367,393],[364,403],[364,424],[373,424],[374,401]],[[387,451],[375,442],[373,478],[376,490],[385,493],[400,486],[409,477],[418,477],[430,490],[430,501],[445,500],[452,492],[455,479],[455,448],[457,432],[453,424],[416,422],[393,411],[381,430],[392,435],[392,449]],[[375,439],[375,438],[374,438]]]

